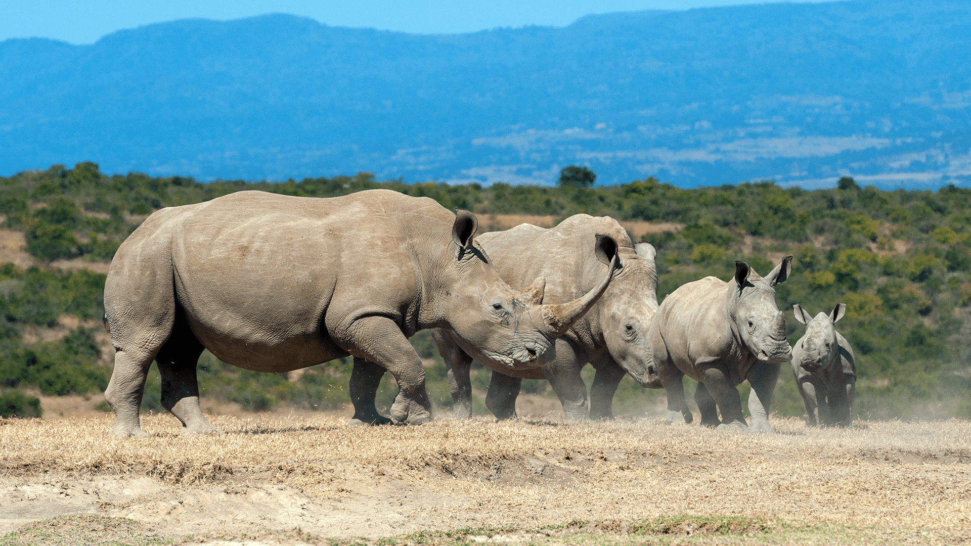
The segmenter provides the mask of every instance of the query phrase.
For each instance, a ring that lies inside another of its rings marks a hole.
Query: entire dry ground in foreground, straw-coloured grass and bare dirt
[[[0,545],[971,542],[971,423],[0,420]]]

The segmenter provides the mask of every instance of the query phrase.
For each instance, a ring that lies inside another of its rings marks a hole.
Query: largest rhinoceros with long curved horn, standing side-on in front
[[[389,422],[374,405],[385,369],[400,389],[391,416],[420,423],[430,404],[408,336],[449,328],[476,358],[519,365],[551,349],[610,282],[606,271],[584,296],[543,305],[542,279],[511,289],[473,242],[476,228],[472,213],[387,189],[327,199],[240,191],[152,214],[118,248],[105,284],[112,434],[145,434],[138,411],[152,358],[162,405],[183,431],[214,430],[199,409],[204,348],[265,372],[352,355],[351,424]]]

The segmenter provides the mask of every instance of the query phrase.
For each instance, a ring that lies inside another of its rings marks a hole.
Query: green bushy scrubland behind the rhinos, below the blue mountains
[[[792,319],[793,303],[814,315],[847,303],[838,329],[853,344],[857,358],[856,413],[876,419],[971,417],[966,396],[971,388],[971,189],[881,191],[860,188],[849,177],[837,188],[814,191],[772,182],[682,189],[653,178],[610,188],[483,188],[379,183],[367,173],[300,182],[200,184],[191,178],[139,173],[109,177],[93,163],[79,163],[73,169],[55,165],[0,178],[0,215],[6,227],[25,232],[28,251],[40,260],[104,260],[145,215],[163,206],[242,189],[327,197],[370,188],[428,196],[447,208],[479,214],[566,217],[584,212],[683,224],[678,232],[645,237],[658,250],[659,299],[706,275],[727,279],[735,259],[749,261],[764,274],[781,256],[792,254],[792,277],[778,290],[780,308],[787,311],[789,341],[794,343],[803,332]],[[22,271],[12,265],[0,269],[0,311],[6,319],[0,324],[0,379],[5,389],[29,386],[60,393],[103,388],[108,371],[95,363],[89,332],[30,347],[22,343],[29,324],[52,325],[63,314],[99,320],[103,286],[103,275],[86,271]],[[451,405],[444,365],[433,345],[423,335],[414,341],[422,358],[437,362],[427,370],[435,403]],[[348,359],[322,364],[289,382],[282,375],[247,372],[207,356],[200,362],[200,386],[211,399],[251,409],[278,404],[333,407],[347,400],[350,365]],[[787,370],[783,378],[776,403],[780,413],[802,415]],[[487,381],[485,372],[477,374],[478,392],[485,392]],[[383,389],[379,399],[388,405],[393,388]],[[147,389],[147,407],[157,404],[152,390],[157,390],[157,379]],[[549,388],[544,382],[526,383],[523,391]],[[617,407],[637,413],[656,395],[625,380]],[[477,411],[485,408],[479,404]]]

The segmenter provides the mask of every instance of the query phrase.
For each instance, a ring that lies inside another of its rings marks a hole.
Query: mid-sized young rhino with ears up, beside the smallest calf
[[[769,425],[769,404],[779,362],[792,358],[775,287],[787,279],[791,261],[792,256],[784,257],[764,278],[748,263],[736,261],[731,281],[706,277],[664,298],[648,337],[653,365],[668,396],[668,423],[682,417],[691,422],[682,383],[687,375],[699,382],[694,399],[702,425],[775,431]],[[736,389],[745,380],[752,385],[751,427]]]

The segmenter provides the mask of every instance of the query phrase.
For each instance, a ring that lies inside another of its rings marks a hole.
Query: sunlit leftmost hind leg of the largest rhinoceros
[[[113,438],[148,436],[139,423],[138,412],[151,359],[150,353],[138,350],[118,350],[115,354],[115,370],[105,390],[105,399],[115,412],[115,427],[110,434]]]

